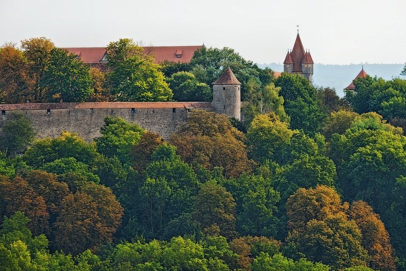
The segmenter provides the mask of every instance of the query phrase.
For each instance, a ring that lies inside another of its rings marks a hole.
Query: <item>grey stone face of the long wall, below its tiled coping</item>
[[[200,108],[211,110],[211,108]],[[122,117],[142,128],[157,132],[164,138],[183,124],[188,116],[186,108],[63,108],[7,110],[0,116],[0,129],[13,113],[25,115],[37,132],[38,138],[58,137],[62,131],[75,132],[86,141],[100,136],[105,116]]]

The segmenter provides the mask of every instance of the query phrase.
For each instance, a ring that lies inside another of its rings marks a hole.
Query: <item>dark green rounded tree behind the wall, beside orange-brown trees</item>
[[[92,80],[89,67],[74,54],[59,48],[51,50],[40,87],[47,88],[48,101],[81,102],[90,94]]]

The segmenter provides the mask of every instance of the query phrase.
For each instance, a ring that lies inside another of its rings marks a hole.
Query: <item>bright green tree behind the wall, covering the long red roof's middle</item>
[[[168,101],[173,93],[160,66],[131,39],[110,42],[106,48],[111,93],[119,101]]]

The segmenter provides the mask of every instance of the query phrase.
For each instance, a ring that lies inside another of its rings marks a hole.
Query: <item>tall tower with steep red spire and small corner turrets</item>
[[[283,62],[283,71],[288,74],[300,74],[309,80],[309,82],[312,82],[313,64],[312,55],[310,51],[306,51],[303,47],[298,30],[293,49],[290,52],[288,50]]]

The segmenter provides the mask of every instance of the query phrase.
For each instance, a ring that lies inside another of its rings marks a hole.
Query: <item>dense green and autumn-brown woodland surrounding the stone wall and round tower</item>
[[[210,100],[231,66],[247,120],[194,110],[163,140],[106,117],[85,142],[9,114],[0,270],[406,270],[405,80],[339,98],[228,48],[156,65],[122,39],[103,70],[44,38],[21,47],[0,49],[3,102]]]

